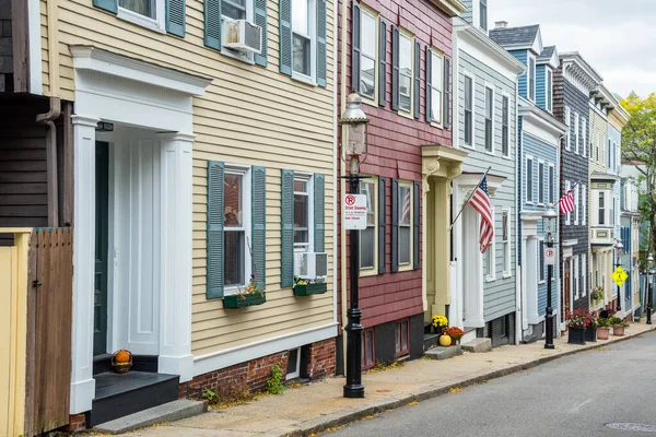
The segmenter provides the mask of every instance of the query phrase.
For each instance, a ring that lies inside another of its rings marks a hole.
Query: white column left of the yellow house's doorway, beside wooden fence
[[[95,259],[95,128],[97,118],[71,117],[74,134],[73,320],[71,414],[91,410]]]

